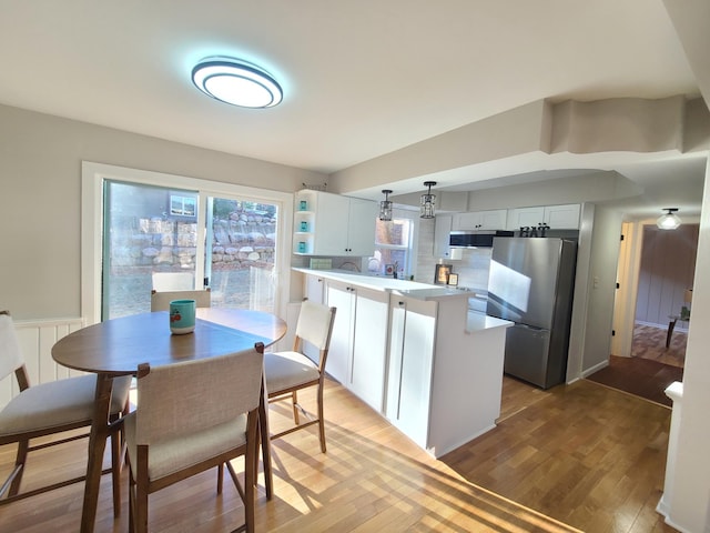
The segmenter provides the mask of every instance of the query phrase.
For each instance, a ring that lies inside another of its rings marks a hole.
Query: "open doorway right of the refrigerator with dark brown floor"
[[[671,405],[663,391],[682,381],[698,233],[697,223],[622,224],[609,365],[588,379]]]

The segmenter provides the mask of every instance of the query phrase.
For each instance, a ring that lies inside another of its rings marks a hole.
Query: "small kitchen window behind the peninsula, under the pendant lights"
[[[390,275],[396,270],[399,276],[412,274],[413,229],[414,222],[408,218],[393,217],[386,222],[377,219],[375,254],[367,262],[368,272]]]

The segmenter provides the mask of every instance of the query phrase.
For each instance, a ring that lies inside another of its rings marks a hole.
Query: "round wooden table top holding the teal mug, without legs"
[[[52,346],[62,366],[108,374],[135,373],[138,365],[171,364],[268,346],[286,334],[286,323],[262,311],[199,308],[195,331],[172,334],[168,311],[106,320],[74,331]]]

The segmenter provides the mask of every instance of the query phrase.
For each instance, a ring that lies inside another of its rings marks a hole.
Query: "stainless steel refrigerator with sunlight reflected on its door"
[[[577,243],[558,238],[495,238],[487,314],[507,329],[504,371],[542,389],[562,383]]]

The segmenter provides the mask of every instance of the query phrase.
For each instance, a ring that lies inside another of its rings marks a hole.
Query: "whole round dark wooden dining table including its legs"
[[[268,346],[285,334],[286,323],[271,313],[200,308],[196,311],[195,330],[189,334],[172,334],[168,311],[159,311],[106,320],[58,341],[52,346],[52,359],[57,363],[97,374],[81,532],[92,532],[94,529],[103,453],[110,432],[108,420],[114,378],[135,374],[141,363],[159,366],[214,358],[253,348],[256,342]],[[267,447],[265,413],[260,419],[261,434]],[[264,462],[266,460],[264,457]]]

